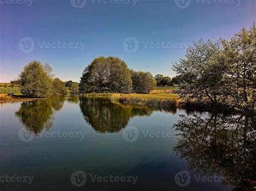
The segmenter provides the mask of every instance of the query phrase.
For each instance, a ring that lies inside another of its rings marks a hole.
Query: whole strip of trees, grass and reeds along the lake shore
[[[80,82],[54,77],[48,63],[31,61],[11,84],[0,84],[1,102],[45,98],[61,94],[107,97],[114,102],[171,109],[255,111],[255,24],[230,40],[201,39],[187,48],[185,58],[173,63],[171,77],[128,68],[118,57],[100,56],[86,66]],[[15,91],[15,92],[11,92]]]

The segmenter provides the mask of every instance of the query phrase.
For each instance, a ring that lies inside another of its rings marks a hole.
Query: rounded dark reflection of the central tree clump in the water
[[[80,98],[84,119],[97,132],[118,132],[134,116],[150,116],[153,109],[143,106],[112,103],[109,100]]]

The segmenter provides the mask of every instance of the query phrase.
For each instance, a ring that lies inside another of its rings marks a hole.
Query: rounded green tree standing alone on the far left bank
[[[31,61],[19,74],[21,91],[30,97],[52,95],[52,71],[50,65],[42,65],[39,61]]]

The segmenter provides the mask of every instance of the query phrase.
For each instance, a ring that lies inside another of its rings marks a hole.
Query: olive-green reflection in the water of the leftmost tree
[[[23,102],[15,115],[27,131],[38,135],[44,129],[49,130],[52,127],[54,111],[60,110],[64,101],[64,97],[55,96],[49,100]]]

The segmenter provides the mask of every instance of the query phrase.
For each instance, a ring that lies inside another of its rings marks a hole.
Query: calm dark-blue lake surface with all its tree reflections
[[[0,111],[1,191],[232,190],[255,180],[254,117],[79,96]]]

